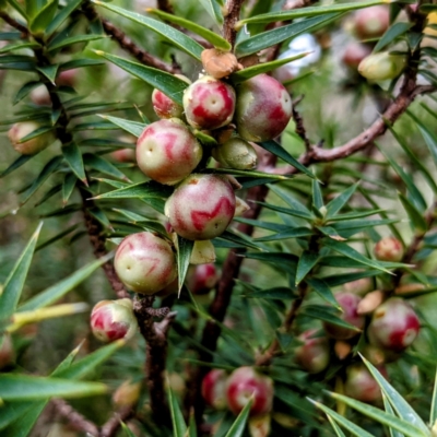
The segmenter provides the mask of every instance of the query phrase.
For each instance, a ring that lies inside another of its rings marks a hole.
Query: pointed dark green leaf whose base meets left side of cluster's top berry
[[[182,105],[184,91],[189,85],[181,79],[176,78],[174,74],[166,73],[165,71],[128,61],[127,59],[105,54],[104,51],[97,51],[97,55],[103,56],[128,73],[149,83],[154,88],[162,91],[167,97],[172,98],[172,101]]]

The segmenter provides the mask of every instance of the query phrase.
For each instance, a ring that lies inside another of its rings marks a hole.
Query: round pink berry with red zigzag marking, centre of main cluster
[[[212,239],[223,234],[233,220],[235,204],[234,190],[225,176],[193,174],[168,198],[165,215],[181,237]]]

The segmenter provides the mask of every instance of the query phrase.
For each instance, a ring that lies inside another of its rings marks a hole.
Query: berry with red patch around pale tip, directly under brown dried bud
[[[184,94],[185,116],[196,129],[217,129],[234,117],[235,91],[225,82],[204,75]]]

